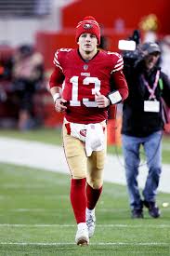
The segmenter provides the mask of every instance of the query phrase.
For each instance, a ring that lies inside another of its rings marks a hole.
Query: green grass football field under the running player
[[[60,130],[0,131],[0,136],[61,142]],[[69,175],[2,163],[0,175],[0,256],[170,255],[170,206],[162,206],[170,205],[169,194],[157,196],[160,219],[150,218],[145,209],[143,220],[132,220],[126,188],[105,182],[95,236],[88,247],[78,247]]]

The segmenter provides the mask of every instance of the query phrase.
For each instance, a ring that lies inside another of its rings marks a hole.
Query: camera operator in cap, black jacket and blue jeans
[[[160,56],[155,43],[138,44],[136,50],[123,52],[129,97],[123,107],[122,141],[132,218],[143,218],[143,207],[152,218],[161,215],[156,194],[162,172],[162,99],[170,106],[170,83],[159,67]],[[141,145],[149,168],[143,199],[137,184]]]

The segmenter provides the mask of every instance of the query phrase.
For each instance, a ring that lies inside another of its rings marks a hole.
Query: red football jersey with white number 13
[[[108,108],[98,108],[95,101],[97,92],[107,96],[118,89],[123,99],[126,98],[124,61],[118,53],[98,51],[92,60],[85,61],[77,49],[60,48],[55,53],[54,64],[56,70],[49,86],[62,88],[62,98],[67,101],[65,117],[70,122],[98,123],[108,118]]]

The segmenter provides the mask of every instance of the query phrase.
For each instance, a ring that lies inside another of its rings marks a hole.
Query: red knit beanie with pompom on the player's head
[[[76,26],[75,40],[79,39],[79,36],[84,33],[95,34],[98,39],[98,45],[100,43],[100,28],[97,20],[92,16],[86,16],[84,20],[80,21]]]

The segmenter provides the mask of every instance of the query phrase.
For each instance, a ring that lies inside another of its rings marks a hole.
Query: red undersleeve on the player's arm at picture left
[[[59,68],[55,68],[53,73],[49,78],[49,88],[59,87],[62,88],[62,83],[64,81],[64,74]]]

